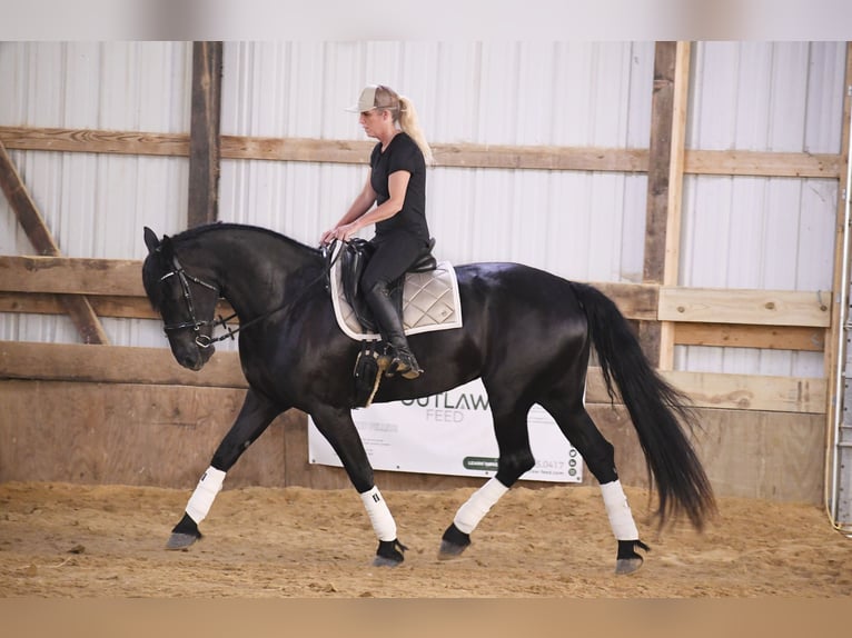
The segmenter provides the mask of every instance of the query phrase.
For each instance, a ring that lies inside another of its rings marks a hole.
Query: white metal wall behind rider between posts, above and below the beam
[[[365,139],[344,109],[378,82],[414,100],[433,143],[648,143],[653,43],[245,42],[226,43],[224,58],[226,134]],[[365,166],[226,161],[220,218],[315,243],[366,177]],[[635,281],[645,185],[644,176],[437,166],[427,200],[436,253]]]

